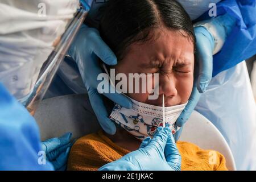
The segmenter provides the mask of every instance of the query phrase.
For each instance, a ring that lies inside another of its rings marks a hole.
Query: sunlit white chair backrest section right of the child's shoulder
[[[218,129],[202,114],[193,111],[184,125],[180,140],[191,142],[203,149],[216,150],[225,156],[226,167],[236,170],[233,154],[228,143]]]

